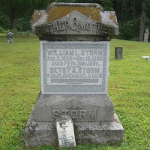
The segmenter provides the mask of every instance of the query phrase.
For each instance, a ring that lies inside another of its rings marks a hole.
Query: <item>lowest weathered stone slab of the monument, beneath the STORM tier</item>
[[[27,122],[24,141],[25,146],[57,145],[58,137],[55,122],[36,122],[34,110]],[[114,114],[112,122],[74,122],[76,143],[107,144],[123,141],[124,129]]]

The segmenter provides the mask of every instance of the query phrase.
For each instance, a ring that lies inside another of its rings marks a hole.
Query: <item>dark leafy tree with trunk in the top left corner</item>
[[[48,4],[49,0],[1,0],[0,11],[10,18],[10,29],[13,29],[17,18],[33,13],[35,8],[45,8]]]

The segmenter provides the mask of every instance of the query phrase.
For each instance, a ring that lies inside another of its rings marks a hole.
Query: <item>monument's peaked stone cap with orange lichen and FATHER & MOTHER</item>
[[[83,40],[84,35],[95,35],[93,40],[99,40],[101,35],[103,40],[108,40],[108,36],[119,34],[115,12],[104,12],[98,4],[52,3],[40,19],[35,18],[38,18],[37,11],[33,15],[32,33],[40,40],[56,40],[56,35],[60,35],[59,40],[63,41]],[[51,38],[51,35],[56,37]],[[72,39],[71,35],[77,37]]]

